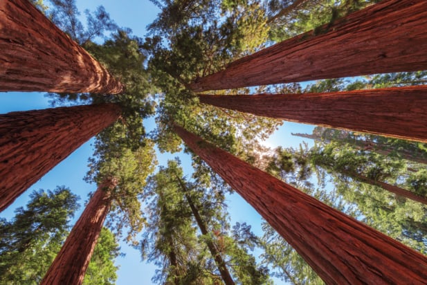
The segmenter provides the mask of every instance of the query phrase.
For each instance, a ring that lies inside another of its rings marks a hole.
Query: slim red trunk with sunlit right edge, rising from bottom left
[[[93,249],[109,212],[111,190],[116,185],[117,181],[114,178],[106,179],[99,185],[44,276],[42,285],[82,284]]]

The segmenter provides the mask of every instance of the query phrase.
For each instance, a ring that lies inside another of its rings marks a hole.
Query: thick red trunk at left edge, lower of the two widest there
[[[120,113],[97,104],[0,115],[0,211]]]

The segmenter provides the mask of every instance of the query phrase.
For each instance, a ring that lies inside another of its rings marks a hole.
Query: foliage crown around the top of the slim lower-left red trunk
[[[143,229],[145,218],[138,198],[146,178],[154,171],[156,154],[151,140],[143,147],[130,149],[121,143],[125,134],[111,127],[97,136],[94,158],[90,159],[87,181],[100,183],[114,177],[118,184],[111,193],[112,203],[107,224],[121,236],[127,228],[126,240],[136,243],[136,235]]]

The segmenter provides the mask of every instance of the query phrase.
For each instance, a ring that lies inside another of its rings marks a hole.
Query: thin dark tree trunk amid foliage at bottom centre
[[[185,199],[187,199],[188,205],[190,205],[191,212],[194,215],[194,219],[196,219],[197,226],[199,226],[199,229],[201,231],[202,235],[207,236],[208,235],[208,229],[206,227],[206,224],[203,222],[203,219],[201,218],[199,214],[199,209],[197,208],[197,205],[195,205],[190,197],[190,194],[188,194],[187,187],[179,178],[176,176],[176,178],[179,181],[179,184],[181,185],[181,188],[183,190],[183,193],[185,195]],[[217,246],[215,246],[215,243],[212,242],[210,239],[206,239],[206,243],[208,245],[210,254],[212,257],[214,257],[215,262],[217,263],[217,267],[219,270],[219,273],[221,273],[221,277],[226,285],[234,285],[235,282],[233,281],[233,278],[230,275],[230,272],[228,271],[228,268],[226,266],[226,262],[221,257],[221,253],[217,250]]]

